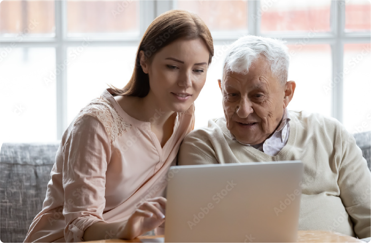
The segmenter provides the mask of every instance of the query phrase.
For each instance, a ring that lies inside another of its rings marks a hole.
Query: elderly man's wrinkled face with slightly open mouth
[[[273,77],[270,64],[262,58],[254,61],[247,74],[226,74],[221,84],[224,115],[239,142],[259,144],[275,131],[291,100],[285,100],[287,83]]]

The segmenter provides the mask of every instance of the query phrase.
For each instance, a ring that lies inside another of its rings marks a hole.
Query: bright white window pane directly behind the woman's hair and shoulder
[[[123,88],[134,70],[138,46],[70,47],[67,67],[68,124],[112,84]]]

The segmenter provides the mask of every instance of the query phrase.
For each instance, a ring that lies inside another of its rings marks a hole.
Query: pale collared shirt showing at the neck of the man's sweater
[[[281,149],[286,145],[288,139],[289,139],[289,132],[290,132],[290,117],[289,112],[287,108],[283,110],[283,116],[282,121],[279,127],[276,129],[276,131],[270,136],[268,139],[266,139],[263,143],[260,144],[246,144],[239,142],[236,137],[232,133],[231,136],[233,140],[238,141],[239,143],[246,145],[246,146],[253,146],[255,149],[260,150],[266,154],[269,154],[271,156],[277,155]]]

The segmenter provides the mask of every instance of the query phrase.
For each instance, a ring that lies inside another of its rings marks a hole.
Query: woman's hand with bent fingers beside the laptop
[[[134,239],[163,224],[165,222],[166,201],[164,197],[155,197],[141,202],[128,219],[120,238]]]

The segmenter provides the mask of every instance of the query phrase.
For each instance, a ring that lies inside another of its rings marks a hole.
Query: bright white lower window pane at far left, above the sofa
[[[57,140],[55,49],[0,48],[0,55],[4,51],[9,53],[0,59],[0,136],[4,142]]]

